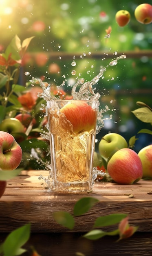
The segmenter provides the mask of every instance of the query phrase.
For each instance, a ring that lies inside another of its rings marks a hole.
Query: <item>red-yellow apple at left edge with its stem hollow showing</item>
[[[22,149],[8,132],[0,131],[0,169],[14,170],[22,160]]]

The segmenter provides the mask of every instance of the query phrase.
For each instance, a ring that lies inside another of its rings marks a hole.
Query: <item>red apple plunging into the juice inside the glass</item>
[[[82,130],[90,131],[96,128],[97,111],[86,101],[70,101],[60,109],[68,121],[73,125],[75,133]]]

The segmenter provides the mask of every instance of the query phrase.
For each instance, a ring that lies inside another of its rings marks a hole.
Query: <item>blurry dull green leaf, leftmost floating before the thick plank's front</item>
[[[66,211],[56,211],[53,213],[53,218],[57,223],[68,229],[73,229],[75,220],[73,216]]]

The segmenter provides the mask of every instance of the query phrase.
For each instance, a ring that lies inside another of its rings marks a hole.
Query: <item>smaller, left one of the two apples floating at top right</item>
[[[115,19],[120,27],[124,27],[130,22],[130,13],[126,10],[117,11]]]

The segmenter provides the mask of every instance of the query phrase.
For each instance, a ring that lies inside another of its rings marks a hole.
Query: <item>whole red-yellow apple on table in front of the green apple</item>
[[[134,150],[121,148],[110,158],[107,171],[119,184],[133,184],[143,176],[141,159]]]

